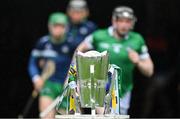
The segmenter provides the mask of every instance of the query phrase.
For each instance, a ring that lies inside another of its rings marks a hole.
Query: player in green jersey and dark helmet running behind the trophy
[[[79,51],[90,49],[109,52],[110,63],[122,68],[120,111],[127,114],[133,89],[133,70],[137,67],[145,76],[153,74],[153,62],[143,37],[132,29],[136,22],[129,7],[116,7],[112,15],[112,26],[95,31],[82,42]],[[120,80],[120,79],[119,79]]]

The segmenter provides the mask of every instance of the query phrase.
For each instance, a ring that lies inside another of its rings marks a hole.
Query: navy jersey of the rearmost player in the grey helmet
[[[70,39],[74,40],[74,46],[78,46],[86,36],[91,34],[97,29],[97,26],[91,21],[83,21],[80,24],[74,25],[71,22],[68,26],[68,33],[70,34]]]

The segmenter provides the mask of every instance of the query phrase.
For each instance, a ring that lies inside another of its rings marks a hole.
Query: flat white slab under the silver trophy
[[[56,119],[128,119],[129,115],[56,115]]]

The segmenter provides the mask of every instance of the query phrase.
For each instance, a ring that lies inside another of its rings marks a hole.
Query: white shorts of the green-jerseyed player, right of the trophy
[[[127,92],[124,97],[120,98],[120,113],[122,115],[128,114],[128,109],[130,107],[131,92]]]

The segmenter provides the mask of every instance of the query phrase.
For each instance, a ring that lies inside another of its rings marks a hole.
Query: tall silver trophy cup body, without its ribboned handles
[[[81,107],[94,109],[104,106],[108,64],[106,51],[102,53],[97,51],[77,52],[77,82]]]

